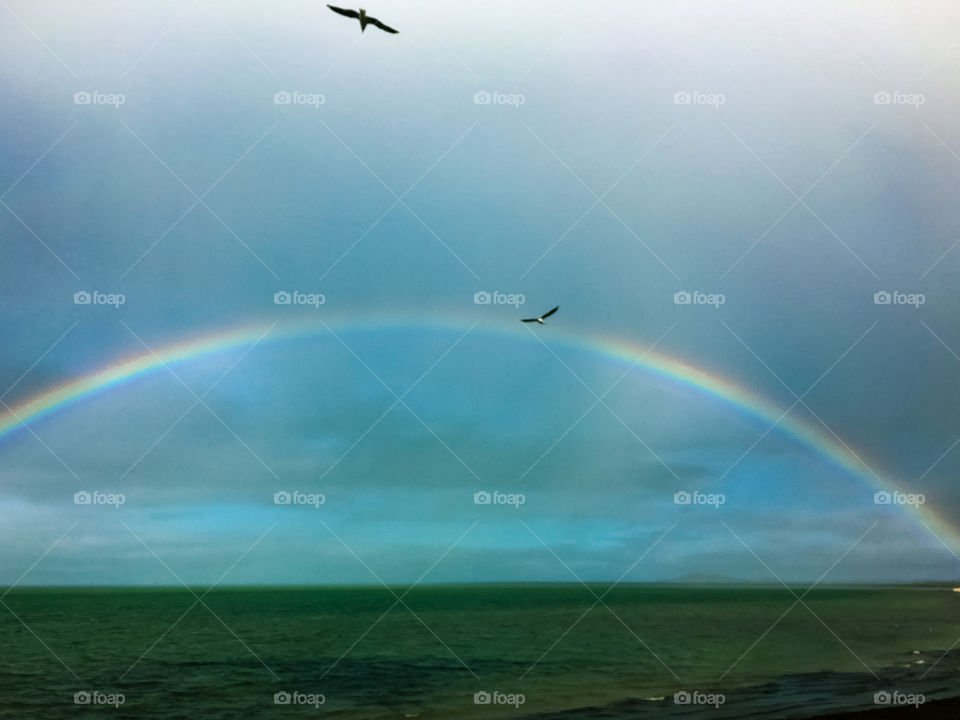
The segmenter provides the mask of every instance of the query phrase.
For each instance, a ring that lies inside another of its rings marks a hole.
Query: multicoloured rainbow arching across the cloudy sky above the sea
[[[455,319],[435,319],[425,325],[423,318],[394,318],[386,321],[379,318],[376,321],[368,322],[357,322],[355,318],[352,318],[323,323],[259,324],[207,334],[153,352],[145,351],[141,355],[121,360],[99,372],[70,380],[9,408],[3,415],[0,415],[0,441],[28,421],[40,419],[64,407],[78,403],[91,395],[123,385],[167,365],[176,365],[205,355],[250,345],[261,340],[272,342],[285,338],[319,336],[338,331],[377,331],[410,327],[457,333],[462,333],[466,329],[463,320]],[[501,336],[512,335],[527,341],[530,340],[527,331],[522,327],[516,329],[497,328],[496,330],[483,328],[479,332],[495,333]],[[722,377],[689,365],[677,358],[646,350],[618,338],[564,334],[551,328],[550,342],[551,344],[558,343],[597,353],[624,365],[636,365],[636,367],[649,373],[717,398],[762,422],[770,425],[776,424],[776,429],[780,432],[794,438],[833,464],[850,472],[853,476],[866,481],[869,486],[876,490],[890,492],[899,490],[898,483],[889,477],[874,472],[870,465],[861,458],[860,453],[855,452],[838,437],[821,430],[812,423],[791,416],[786,408],[781,408],[767,398],[750,392]],[[954,530],[950,523],[938,516],[932,508],[927,505],[902,507],[906,511],[914,513],[923,526],[940,542],[944,544],[949,542],[950,546],[960,548],[960,534]]]

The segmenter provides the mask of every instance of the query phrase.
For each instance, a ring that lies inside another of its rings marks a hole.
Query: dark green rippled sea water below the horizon
[[[960,694],[947,588],[591,590],[16,588],[0,717],[803,718]]]

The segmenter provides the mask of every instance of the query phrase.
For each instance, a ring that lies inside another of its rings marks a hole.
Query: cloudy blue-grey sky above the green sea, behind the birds
[[[956,580],[960,10],[369,12],[0,6],[0,583]]]

